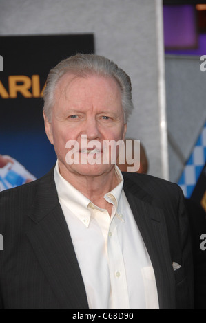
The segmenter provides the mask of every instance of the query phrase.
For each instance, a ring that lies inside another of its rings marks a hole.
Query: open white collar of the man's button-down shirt
[[[112,203],[116,211],[118,210],[121,192],[123,190],[123,175],[118,166],[115,165],[116,176],[119,179],[119,184],[110,192],[106,193],[104,198],[107,202]],[[59,197],[59,202],[63,203],[86,227],[90,224],[91,212],[90,206],[92,201],[87,199],[85,195],[76,190],[68,181],[66,181],[59,172],[59,161],[56,161],[54,168],[54,181],[56,183],[56,190]],[[96,205],[94,205],[96,206]],[[101,210],[101,209],[99,209]],[[121,214],[121,219],[123,220]]]

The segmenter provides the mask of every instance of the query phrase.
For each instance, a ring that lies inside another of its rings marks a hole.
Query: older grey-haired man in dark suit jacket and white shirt
[[[77,54],[50,71],[44,99],[57,162],[0,194],[0,308],[191,309],[181,190],[122,175],[112,148],[104,162],[105,142],[125,138],[129,76],[107,58]]]

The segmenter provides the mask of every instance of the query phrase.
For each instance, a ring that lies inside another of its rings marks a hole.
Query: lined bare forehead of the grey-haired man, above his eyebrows
[[[56,100],[121,100],[121,88],[111,76],[65,74],[56,85]]]

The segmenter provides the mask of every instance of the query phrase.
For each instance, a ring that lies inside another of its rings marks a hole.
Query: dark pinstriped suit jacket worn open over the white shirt
[[[53,172],[0,194],[0,309],[88,309]],[[160,308],[191,309],[192,253],[180,188],[149,175],[123,176],[154,267]],[[173,262],[181,268],[174,271]]]

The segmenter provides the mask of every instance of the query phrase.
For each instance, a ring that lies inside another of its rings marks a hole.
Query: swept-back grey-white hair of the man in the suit
[[[55,104],[54,91],[61,77],[67,73],[80,77],[98,75],[112,77],[118,83],[122,94],[122,107],[125,122],[132,113],[132,85],[130,76],[123,69],[120,69],[111,60],[95,54],[76,54],[62,60],[48,74],[46,87],[43,92],[44,107],[46,117],[50,121],[52,118],[52,108]]]

